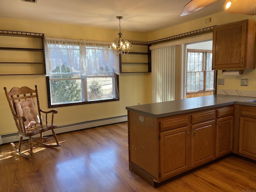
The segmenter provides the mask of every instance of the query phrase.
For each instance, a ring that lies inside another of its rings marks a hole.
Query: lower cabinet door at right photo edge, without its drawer
[[[240,118],[239,153],[256,159],[255,118]]]

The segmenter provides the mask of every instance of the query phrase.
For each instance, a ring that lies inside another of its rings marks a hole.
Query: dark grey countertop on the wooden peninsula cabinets
[[[126,110],[160,118],[232,104],[256,106],[256,103],[245,102],[246,100],[252,99],[255,99],[255,97],[218,94],[144,105],[127,106]]]

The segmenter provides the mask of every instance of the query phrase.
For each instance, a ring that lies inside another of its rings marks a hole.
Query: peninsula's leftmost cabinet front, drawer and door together
[[[160,118],[160,179],[165,180],[190,167],[190,116]]]

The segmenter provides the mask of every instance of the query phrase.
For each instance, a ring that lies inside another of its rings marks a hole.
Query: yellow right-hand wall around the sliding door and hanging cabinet
[[[211,18],[210,23],[204,22],[206,18]],[[204,18],[200,18],[197,20],[193,20],[191,22],[186,22],[183,24],[179,24],[176,26],[172,26],[163,30],[159,30],[156,32],[152,32],[148,34],[148,41],[152,40],[157,40],[161,38],[166,38],[170,36],[174,36],[177,34],[182,34],[185,32],[190,32],[193,30],[197,29],[202,29],[210,26],[215,26],[215,25],[221,25],[221,24],[226,24],[226,23],[231,23],[231,22],[236,22],[240,20],[245,20],[245,19],[251,19],[251,20],[256,20],[256,16],[248,16],[248,15],[239,15],[239,14],[228,14],[225,11],[213,14]],[[178,49],[176,49],[177,52]],[[178,53],[176,53],[176,56],[178,56]],[[178,73],[178,69],[180,69],[180,62],[177,62],[176,58],[176,74],[180,75]],[[220,89],[230,89],[230,90],[249,90],[249,91],[255,91],[256,90],[256,70],[244,70],[244,74],[242,76],[237,76],[237,77],[232,77],[232,76],[222,76],[222,71],[218,71],[218,78],[224,78],[224,85],[217,85],[217,93],[219,92]],[[249,83],[248,86],[240,86],[240,79],[248,79]],[[176,79],[175,82],[175,99],[178,98],[178,94],[180,91],[180,82]],[[256,97],[256,95],[255,95]]]

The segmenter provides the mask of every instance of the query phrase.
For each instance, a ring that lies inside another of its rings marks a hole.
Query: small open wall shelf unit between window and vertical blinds
[[[147,44],[133,44],[127,55],[120,55],[121,73],[151,72],[151,54]]]

